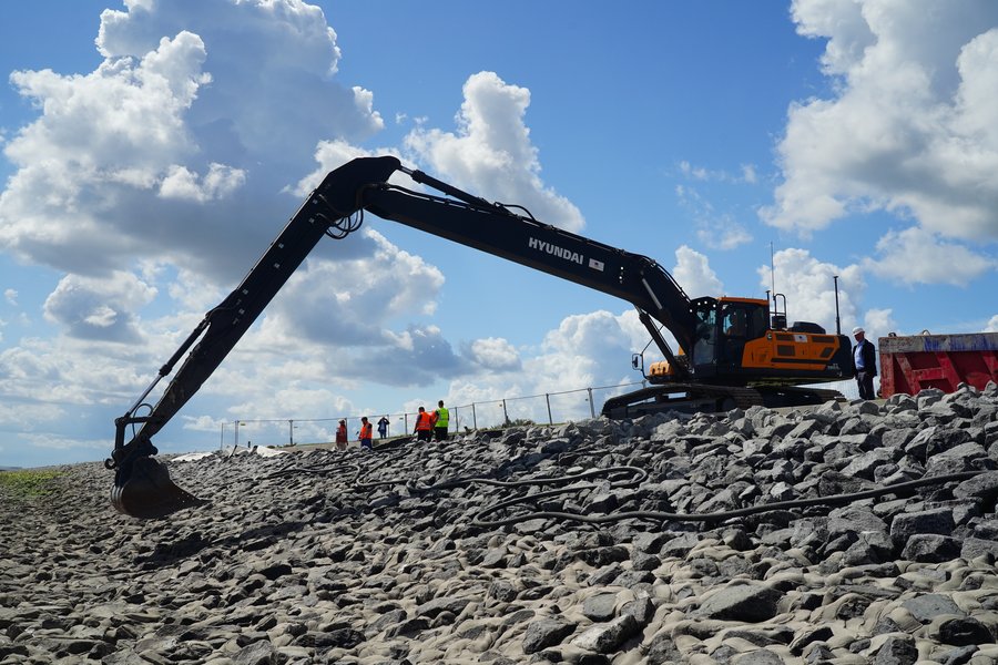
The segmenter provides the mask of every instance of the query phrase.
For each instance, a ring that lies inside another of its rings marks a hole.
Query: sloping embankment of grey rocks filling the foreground
[[[198,456],[171,473],[211,509],[147,522],[60,467],[44,501],[0,484],[0,661],[994,663],[996,418],[998,386]]]

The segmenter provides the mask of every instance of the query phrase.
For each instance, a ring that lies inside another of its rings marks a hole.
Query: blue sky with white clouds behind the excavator
[[[775,290],[834,330],[837,285],[869,338],[998,330],[991,0],[34,0],[0,3],[0,467],[108,457],[357,156],[651,256],[691,297]],[[438,399],[464,427],[503,399],[583,418],[648,341],[623,300],[368,215],[154,442],[398,432]]]

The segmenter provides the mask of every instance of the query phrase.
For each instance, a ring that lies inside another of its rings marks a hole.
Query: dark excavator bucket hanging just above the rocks
[[[115,480],[111,503],[126,515],[152,520],[207,501],[174,484],[165,466],[151,457],[140,457],[133,462],[128,479],[121,484]]]

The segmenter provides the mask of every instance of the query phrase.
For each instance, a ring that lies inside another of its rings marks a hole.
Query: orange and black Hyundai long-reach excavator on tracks
[[[398,173],[422,187],[389,183]],[[781,309],[778,294],[773,294],[772,311],[768,294],[691,299],[646,256],[544,224],[522,206],[486,201],[407,168],[395,156],[358,157],[326,175],[242,283],[205,314],[139,399],[115,419],[114,449],[104,463],[114,471],[115,509],[154,519],[202,503],[174,484],[165,466],[153,459],[159,452],[153,436],[211,377],[318,242],[325,236],[346,238],[360,228],[365,213],[631,303],[664,360],[644,372],[643,354],[632,358],[646,385],[609,399],[602,409],[608,418],[668,409],[717,412],[753,405],[821,403],[838,393],[808,385],[853,372],[848,338],[811,323],[788,327],[785,297]],[[675,352],[663,328],[674,337]],[[146,398],[182,358],[151,406]]]

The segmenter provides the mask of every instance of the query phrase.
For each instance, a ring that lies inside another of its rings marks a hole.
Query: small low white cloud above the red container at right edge
[[[878,257],[866,259],[864,267],[880,277],[907,284],[966,286],[998,266],[994,258],[917,227],[886,233],[877,241],[876,249]]]

